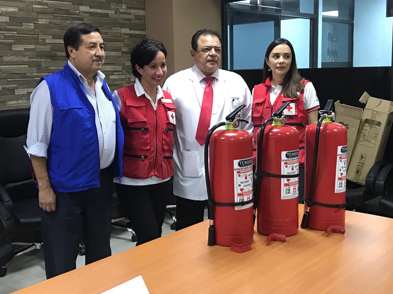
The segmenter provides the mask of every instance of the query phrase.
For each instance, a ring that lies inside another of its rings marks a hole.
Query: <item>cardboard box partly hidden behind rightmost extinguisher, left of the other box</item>
[[[347,162],[351,161],[351,154],[355,145],[356,137],[362,120],[363,109],[345,104],[340,104],[340,100],[334,103],[336,120],[347,128]]]

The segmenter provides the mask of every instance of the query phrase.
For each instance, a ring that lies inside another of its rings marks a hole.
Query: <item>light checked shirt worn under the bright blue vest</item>
[[[95,74],[95,95],[81,73],[68,61],[73,72],[79,78],[89,102],[94,107],[95,126],[97,128],[100,169],[108,167],[116,148],[116,113],[112,101],[101,89],[105,75],[101,71]],[[43,80],[30,95],[30,120],[25,147],[26,152],[38,157],[47,158],[50,143],[53,108],[50,100],[48,84]],[[75,130],[77,131],[77,130]]]

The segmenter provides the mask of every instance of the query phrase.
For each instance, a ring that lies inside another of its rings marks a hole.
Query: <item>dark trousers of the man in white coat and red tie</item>
[[[176,196],[176,231],[203,221],[208,200],[190,200]]]

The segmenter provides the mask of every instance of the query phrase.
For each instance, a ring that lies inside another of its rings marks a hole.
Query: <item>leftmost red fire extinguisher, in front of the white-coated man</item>
[[[205,143],[208,245],[229,246],[235,252],[251,250],[253,240],[252,136],[237,129],[246,121],[236,118],[245,106],[226,116],[227,122],[214,125]],[[215,131],[221,126],[225,129]]]

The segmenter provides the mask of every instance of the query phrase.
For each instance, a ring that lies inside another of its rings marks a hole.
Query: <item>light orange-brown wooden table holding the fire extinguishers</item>
[[[303,207],[299,205],[301,218]],[[142,275],[153,293],[393,293],[393,219],[346,212],[346,233],[255,230],[252,250],[207,246],[208,221],[14,293],[101,293]]]

